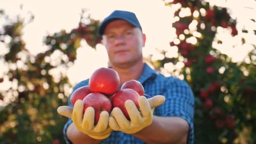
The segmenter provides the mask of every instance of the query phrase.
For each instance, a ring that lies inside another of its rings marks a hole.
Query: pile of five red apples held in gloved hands
[[[138,98],[144,95],[144,88],[137,80],[125,82],[120,90],[120,78],[114,69],[99,68],[93,72],[89,85],[77,88],[71,95],[70,101],[74,106],[80,99],[83,101],[83,113],[88,107],[95,111],[94,123],[98,123],[102,111],[109,114],[114,107],[119,107],[125,117],[130,120],[125,108],[125,101],[130,99],[139,108]]]

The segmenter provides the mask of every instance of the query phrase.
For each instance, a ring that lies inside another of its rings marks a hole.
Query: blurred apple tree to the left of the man
[[[56,109],[67,105],[72,89],[67,69],[76,59],[81,39],[92,47],[99,42],[95,33],[99,21],[81,15],[90,22],[78,24],[71,32],[61,30],[45,36],[48,49],[34,56],[22,39],[23,28],[33,21],[33,16],[29,21],[20,15],[10,19],[0,11],[0,17],[9,21],[0,27],[0,43],[5,46],[0,55],[4,65],[0,75],[0,141],[64,143],[62,130],[67,118],[57,114]]]

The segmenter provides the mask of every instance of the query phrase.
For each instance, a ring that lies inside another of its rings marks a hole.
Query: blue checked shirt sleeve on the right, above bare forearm
[[[188,144],[194,141],[194,94],[189,85],[178,78],[173,78],[165,85],[165,103],[160,108],[164,117],[181,117],[189,124]]]

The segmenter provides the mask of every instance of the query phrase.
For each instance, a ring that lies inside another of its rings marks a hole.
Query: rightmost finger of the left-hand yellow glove
[[[109,123],[109,113],[107,111],[101,112],[101,114],[99,115],[99,121],[93,131],[95,132],[105,131],[107,129],[108,123]]]

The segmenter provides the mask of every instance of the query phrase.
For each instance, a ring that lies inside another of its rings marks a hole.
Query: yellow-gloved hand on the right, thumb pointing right
[[[147,99],[145,96],[139,97],[139,109],[131,100],[125,101],[125,108],[131,120],[127,120],[120,108],[115,107],[109,117],[109,127],[114,131],[124,133],[136,133],[152,123],[155,107],[165,102],[165,97],[161,95]]]

